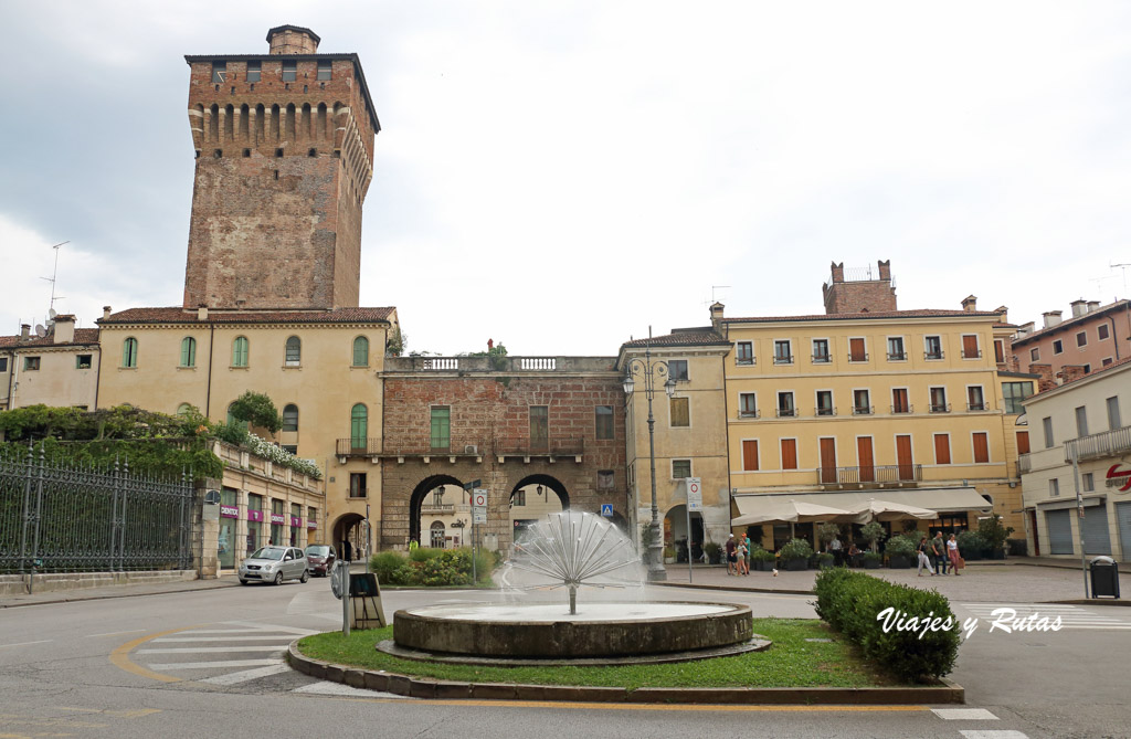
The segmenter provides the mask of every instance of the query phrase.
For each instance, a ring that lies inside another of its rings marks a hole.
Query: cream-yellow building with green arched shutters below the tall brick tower
[[[107,309],[98,324],[100,407],[130,403],[175,413],[192,405],[222,422],[244,392],[266,394],[284,421],[269,440],[323,471],[329,530],[319,530],[320,540],[349,535],[360,551],[372,549],[362,522],[369,515],[371,531],[378,529],[381,475],[372,459],[349,452],[380,448],[378,372],[398,330],[395,309]]]

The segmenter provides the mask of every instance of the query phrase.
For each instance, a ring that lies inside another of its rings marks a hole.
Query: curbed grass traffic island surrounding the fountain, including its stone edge
[[[878,672],[817,620],[756,619],[763,652],[698,662],[611,667],[486,667],[413,662],[379,652],[391,627],[294,642],[291,665],[353,687],[431,699],[734,705],[961,704],[950,680],[904,685]]]

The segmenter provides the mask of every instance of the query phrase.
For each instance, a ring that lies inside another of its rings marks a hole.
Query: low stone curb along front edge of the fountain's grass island
[[[454,682],[413,678],[385,670],[362,670],[304,656],[299,639],[287,648],[287,663],[319,680],[354,688],[430,701],[538,701],[559,703],[631,703],[691,705],[921,705],[965,704],[966,688],[942,679],[925,688],[597,688],[513,682]]]

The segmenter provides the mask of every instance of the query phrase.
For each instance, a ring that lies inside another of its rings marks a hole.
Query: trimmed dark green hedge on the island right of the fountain
[[[865,659],[893,677],[924,681],[953,670],[961,624],[950,609],[950,601],[939,593],[896,585],[843,567],[821,570],[813,590],[817,615],[856,644]],[[901,617],[904,626],[916,628],[904,630],[892,626],[884,633],[884,620],[878,617],[889,608],[893,609],[890,621]],[[925,624],[934,629],[924,628]]]

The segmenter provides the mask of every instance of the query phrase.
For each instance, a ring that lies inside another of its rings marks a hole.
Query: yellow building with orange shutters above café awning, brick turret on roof
[[[976,529],[991,509],[1020,530],[1017,414],[1007,414],[995,351],[1002,313],[977,311],[973,297],[962,310],[897,310],[887,263],[878,280],[846,280],[834,265],[824,293],[839,312],[727,318],[711,308],[733,346],[735,516],[767,496],[837,508],[874,498],[938,510],[923,530]],[[810,526],[796,531],[812,541]],[[789,526],[762,533],[776,549]]]

